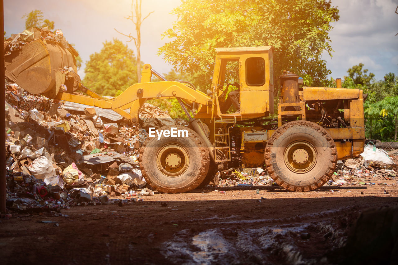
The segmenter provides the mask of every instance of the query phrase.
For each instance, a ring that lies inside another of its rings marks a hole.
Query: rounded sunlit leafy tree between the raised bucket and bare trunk
[[[100,52],[90,55],[82,83],[100,95],[115,96],[137,83],[137,58],[118,39],[105,41]]]

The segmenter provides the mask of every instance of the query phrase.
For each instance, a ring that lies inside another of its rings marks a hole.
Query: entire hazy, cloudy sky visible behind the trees
[[[141,26],[141,60],[151,64],[159,73],[171,70],[161,56],[160,48],[167,38],[162,33],[172,27],[175,15],[170,11],[181,0],[142,0],[142,15],[154,11]],[[398,75],[398,0],[332,0],[340,10],[340,19],[332,23],[332,58],[326,53],[327,68],[333,78],[343,78],[347,70],[359,63],[382,79],[388,72]],[[99,52],[104,41],[120,39],[135,50],[133,42],[118,31],[129,34],[134,25],[125,19],[131,12],[131,0],[4,0],[4,30],[7,36],[20,33],[25,28],[21,17],[32,10],[41,10],[44,18],[55,21],[55,28],[62,29],[64,37],[75,44],[83,60],[78,74],[84,76],[85,62],[90,54]]]

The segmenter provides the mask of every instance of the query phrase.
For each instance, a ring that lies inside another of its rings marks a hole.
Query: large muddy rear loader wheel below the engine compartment
[[[336,169],[337,150],[329,133],[313,122],[298,120],[279,127],[265,147],[271,178],[290,191],[324,185]]]

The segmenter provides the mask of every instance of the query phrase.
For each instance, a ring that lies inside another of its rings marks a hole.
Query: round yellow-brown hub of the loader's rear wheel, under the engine
[[[295,141],[286,147],[283,159],[289,170],[304,174],[314,168],[317,153],[311,143],[307,141]]]

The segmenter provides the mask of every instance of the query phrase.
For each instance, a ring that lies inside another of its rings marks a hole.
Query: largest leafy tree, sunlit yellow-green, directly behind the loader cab
[[[172,11],[178,20],[164,32],[172,40],[159,55],[204,91],[212,77],[216,47],[273,46],[274,78],[295,71],[328,82],[322,52],[332,56],[329,31],[338,9],[325,0],[186,0]],[[276,80],[275,80],[276,81]],[[308,84],[309,85],[309,84]]]

